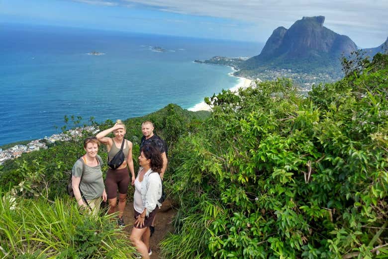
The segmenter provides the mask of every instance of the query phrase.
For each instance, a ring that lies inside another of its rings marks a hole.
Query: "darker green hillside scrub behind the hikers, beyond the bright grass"
[[[139,156],[139,144],[142,137],[141,123],[151,120],[155,125],[155,133],[166,139],[173,145],[176,140],[188,130],[185,126],[189,122],[196,123],[209,115],[209,112],[191,112],[183,110],[175,104],[169,104],[165,108],[143,117],[131,118],[124,121],[127,131],[125,138],[133,143],[133,161],[135,170],[137,157]],[[67,116],[65,122],[68,122]],[[79,126],[73,123],[74,126]],[[100,130],[114,125],[112,120],[100,124]],[[65,125],[66,126],[66,125]],[[62,127],[65,128],[65,127]],[[67,182],[74,163],[85,154],[82,142],[85,136],[93,135],[84,131],[81,137],[72,141],[56,142],[47,150],[35,151],[23,154],[20,158],[9,160],[0,166],[0,182],[3,189],[11,189],[15,186],[18,194],[24,197],[44,196],[50,200],[55,197],[67,195]],[[111,135],[112,137],[113,135]],[[100,146],[99,155],[106,161],[107,155],[104,146]],[[103,172],[106,172],[106,164]]]

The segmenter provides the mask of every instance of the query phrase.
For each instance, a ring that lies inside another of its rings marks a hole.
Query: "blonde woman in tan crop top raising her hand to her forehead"
[[[113,132],[114,138],[105,137],[109,133]],[[121,148],[121,143],[124,140],[123,153],[125,156],[124,162],[121,166],[115,170],[108,169],[106,172],[106,193],[109,201],[109,210],[108,213],[116,212],[116,204],[117,204],[117,190],[118,190],[118,219],[117,224],[119,226],[125,226],[124,220],[122,218],[126,198],[127,191],[129,185],[129,171],[131,172],[132,179],[131,184],[134,184],[135,181],[135,171],[133,170],[133,160],[132,160],[132,142],[124,139],[125,135],[125,125],[121,120],[117,120],[116,124],[113,127],[106,129],[104,131],[99,132],[96,137],[99,142],[106,145],[106,149],[108,151],[108,159],[112,159],[115,153],[118,152]],[[113,151],[113,152],[111,152]]]

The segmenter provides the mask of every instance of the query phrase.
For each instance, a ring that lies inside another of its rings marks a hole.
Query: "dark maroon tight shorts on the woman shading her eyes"
[[[108,199],[117,197],[117,190],[120,194],[127,194],[129,185],[128,168],[112,170],[108,169],[106,172],[105,186],[106,196]]]

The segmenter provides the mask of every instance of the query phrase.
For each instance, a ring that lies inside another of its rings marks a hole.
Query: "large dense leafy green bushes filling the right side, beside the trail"
[[[207,98],[170,164],[166,258],[386,258],[388,58],[307,98],[290,81]]]

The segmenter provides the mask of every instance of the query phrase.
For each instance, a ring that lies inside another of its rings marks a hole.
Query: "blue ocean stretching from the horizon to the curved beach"
[[[80,28],[0,26],[0,145],[58,133],[65,115],[102,122],[145,115],[169,103],[191,108],[239,82],[228,75],[231,68],[197,64],[195,59],[254,56],[263,47]],[[93,51],[104,55],[88,55]]]

